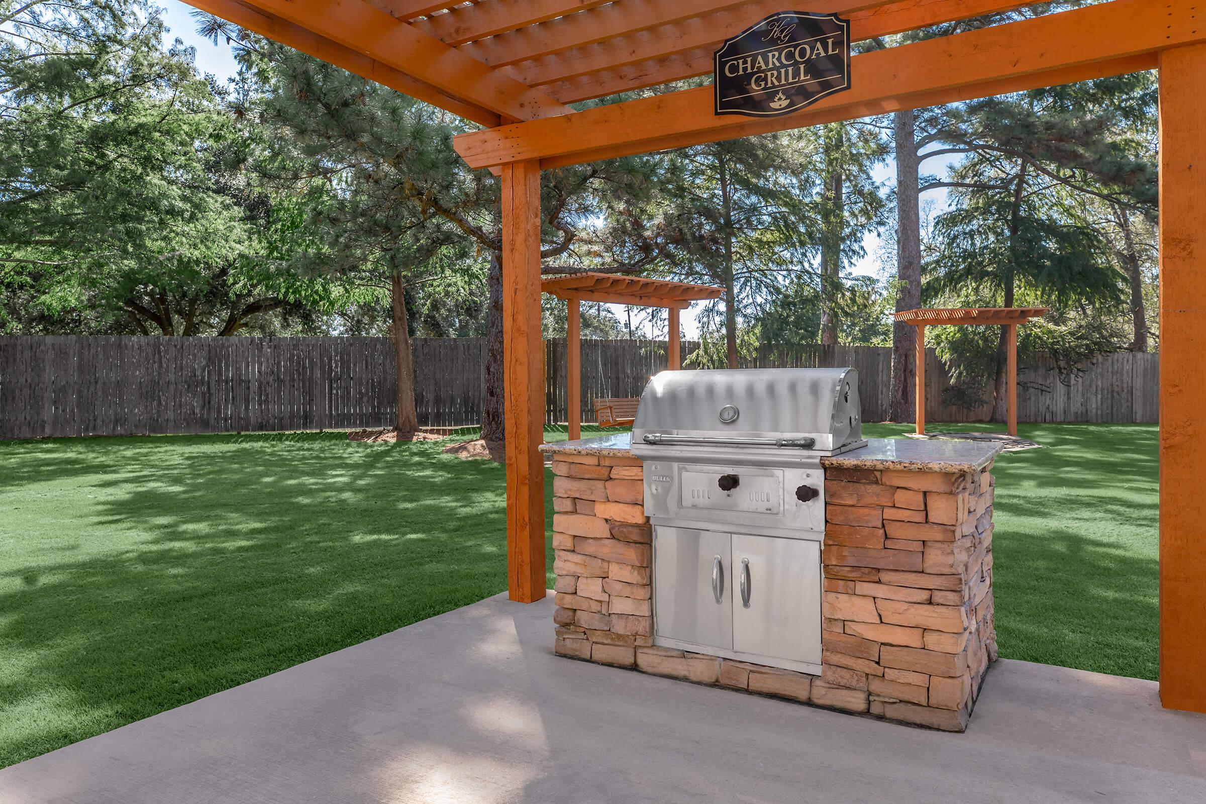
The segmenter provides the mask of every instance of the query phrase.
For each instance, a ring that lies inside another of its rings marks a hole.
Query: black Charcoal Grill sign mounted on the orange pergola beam
[[[850,23],[780,11],[715,54],[716,115],[777,117],[850,88]]]

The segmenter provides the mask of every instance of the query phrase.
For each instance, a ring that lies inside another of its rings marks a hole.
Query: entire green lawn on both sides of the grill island
[[[1001,655],[1155,677],[1155,427],[1021,429]],[[503,591],[503,470],[440,446],[0,442],[0,767]]]

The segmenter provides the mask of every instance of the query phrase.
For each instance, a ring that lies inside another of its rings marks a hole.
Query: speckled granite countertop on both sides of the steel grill
[[[867,446],[821,458],[822,466],[896,469],[900,471],[979,471],[993,462],[1001,445],[984,441],[867,439]],[[541,444],[540,452],[632,456],[632,434],[616,433],[578,441]]]

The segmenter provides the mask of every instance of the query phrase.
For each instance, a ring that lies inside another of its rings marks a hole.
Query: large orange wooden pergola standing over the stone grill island
[[[1200,0],[1108,0],[873,49],[851,88],[772,118],[716,116],[698,87],[574,101],[712,71],[720,42],[791,8],[863,41],[1018,8],[1012,0],[188,0],[484,127],[456,147],[502,177],[510,595],[545,594],[540,171],[1159,69],[1160,694],[1206,711],[1206,24]],[[1198,170],[1195,174],[1194,170]]]

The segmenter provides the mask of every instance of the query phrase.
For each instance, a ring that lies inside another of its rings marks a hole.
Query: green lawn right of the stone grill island
[[[982,429],[983,426],[933,429]],[[912,428],[871,424],[872,436]],[[1155,424],[1020,424],[993,521],[1001,656],[1157,677]]]

